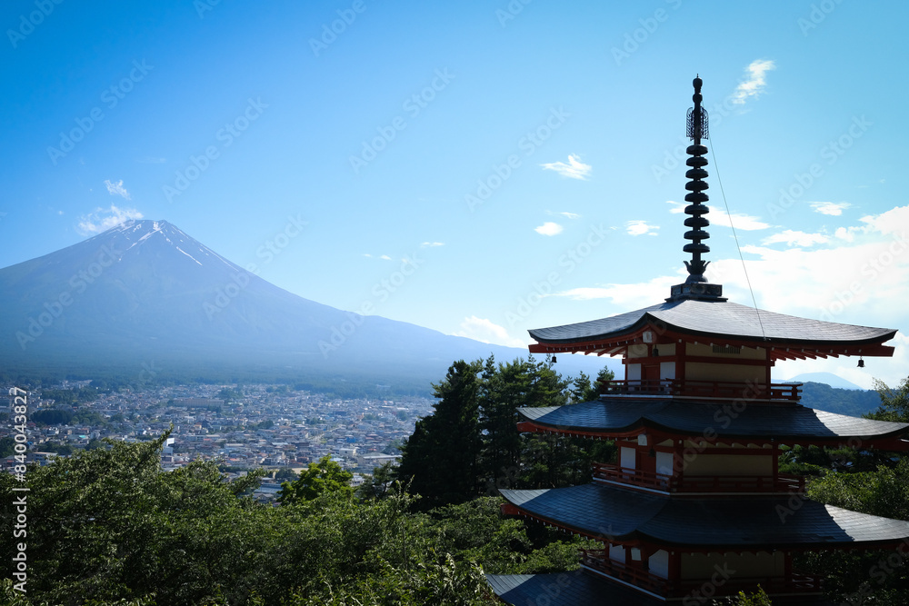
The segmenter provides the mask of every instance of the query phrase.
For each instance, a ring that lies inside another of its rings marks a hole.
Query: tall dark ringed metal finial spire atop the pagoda
[[[707,165],[707,159],[704,158],[707,148],[701,144],[701,140],[706,139],[708,135],[707,110],[701,107],[701,102],[704,100],[704,97],[701,96],[701,85],[704,82],[700,76],[695,76],[692,84],[694,84],[694,94],[691,98],[694,101],[694,107],[688,110],[686,134],[693,144],[688,145],[688,149],[685,150],[691,157],[685,160],[685,164],[689,169],[684,174],[685,177],[690,179],[684,185],[684,188],[688,190],[684,200],[689,203],[685,206],[684,213],[690,215],[684,220],[685,226],[690,228],[689,231],[684,233],[684,239],[690,240],[691,243],[687,243],[682,247],[685,253],[691,253],[691,261],[684,262],[685,267],[688,269],[687,280],[684,281],[684,284],[673,286],[672,296],[667,301],[684,299],[725,301],[721,297],[723,287],[719,284],[707,283],[704,271],[710,262],[701,259],[702,254],[710,252],[710,247],[703,243],[704,240],[710,237],[710,234],[704,231],[704,227],[709,225],[710,222],[703,216],[710,212],[710,209],[704,204],[708,200],[707,194],[704,194],[704,190],[708,187],[706,182],[704,182],[704,178],[707,176],[707,171],[704,170],[704,166]]]

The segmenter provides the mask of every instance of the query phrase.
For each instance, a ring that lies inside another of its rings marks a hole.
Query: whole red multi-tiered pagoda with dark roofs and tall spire
[[[798,384],[771,382],[778,361],[892,356],[896,331],[758,310],[707,282],[701,86],[687,120],[687,279],[664,303],[530,331],[532,353],[622,356],[624,379],[601,383],[594,402],[520,409],[519,431],[614,440],[618,455],[588,484],[502,491],[505,514],[601,543],[578,572],[487,575],[506,603],[687,606],[758,584],[774,604],[827,603],[794,552],[909,539],[909,523],[811,501],[804,477],[779,472],[784,445],[909,450],[909,424],[806,408]]]

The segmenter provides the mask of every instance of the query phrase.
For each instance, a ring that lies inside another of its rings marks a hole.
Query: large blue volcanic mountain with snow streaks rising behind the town
[[[7,374],[279,375],[428,392],[454,360],[528,356],[304,299],[166,221],[128,221],[0,269],[0,289]],[[595,374],[604,363],[559,356],[557,369]]]

